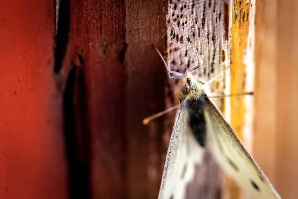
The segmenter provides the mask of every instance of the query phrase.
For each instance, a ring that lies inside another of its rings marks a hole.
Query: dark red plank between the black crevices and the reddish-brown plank
[[[69,6],[70,37],[60,75],[67,82],[76,71],[73,133],[79,139],[72,191],[75,197],[126,198],[125,1],[71,0]]]

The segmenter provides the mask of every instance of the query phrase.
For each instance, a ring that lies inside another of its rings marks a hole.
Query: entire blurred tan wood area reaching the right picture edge
[[[296,0],[257,1],[254,150],[284,199],[298,195],[297,13]]]

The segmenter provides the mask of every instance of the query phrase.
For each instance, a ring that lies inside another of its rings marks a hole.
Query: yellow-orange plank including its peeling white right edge
[[[230,66],[230,93],[239,94],[253,91],[254,80],[254,0],[231,1],[231,66]],[[252,153],[252,114],[253,99],[239,96],[230,98],[230,124]],[[231,181],[227,182],[230,199],[241,198],[241,191]]]

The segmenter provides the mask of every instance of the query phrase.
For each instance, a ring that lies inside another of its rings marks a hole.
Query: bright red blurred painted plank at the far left
[[[68,198],[54,0],[0,5],[0,198]]]

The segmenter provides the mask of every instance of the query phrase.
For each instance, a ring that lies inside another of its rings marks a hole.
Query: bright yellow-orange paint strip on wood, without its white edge
[[[251,70],[244,63],[244,56],[248,49],[249,42],[249,28],[252,21],[249,20],[252,3],[246,3],[245,0],[232,0],[232,13],[231,13],[231,69],[230,69],[230,93],[244,93],[246,84],[251,84],[247,81],[247,70]],[[230,98],[231,105],[231,121],[230,125],[241,141],[246,145],[246,140],[243,137],[245,128],[245,117],[247,116],[247,107],[245,104],[244,96]],[[249,151],[251,151],[249,149]],[[242,190],[232,180],[226,180],[226,188],[229,193],[225,198],[240,199]]]

